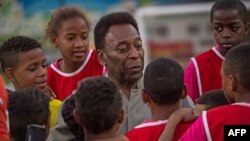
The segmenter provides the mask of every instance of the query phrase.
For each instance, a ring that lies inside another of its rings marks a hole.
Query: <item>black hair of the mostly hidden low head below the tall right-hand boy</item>
[[[204,104],[206,110],[221,105],[229,104],[223,90],[212,90],[201,95],[197,101],[197,104]]]

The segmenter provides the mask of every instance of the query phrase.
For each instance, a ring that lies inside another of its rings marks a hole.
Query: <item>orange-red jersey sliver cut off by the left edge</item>
[[[7,117],[8,96],[0,76],[0,140],[10,140]]]

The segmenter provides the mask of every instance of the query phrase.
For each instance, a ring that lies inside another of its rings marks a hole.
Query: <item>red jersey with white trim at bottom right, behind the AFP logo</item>
[[[224,140],[224,125],[250,125],[250,104],[234,103],[202,114],[208,141]]]

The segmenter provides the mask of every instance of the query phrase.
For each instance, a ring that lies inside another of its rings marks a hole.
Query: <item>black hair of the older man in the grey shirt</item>
[[[96,24],[94,29],[94,40],[96,50],[102,50],[104,48],[105,36],[109,29],[113,25],[132,25],[139,34],[137,22],[131,14],[128,12],[115,12],[103,16]]]

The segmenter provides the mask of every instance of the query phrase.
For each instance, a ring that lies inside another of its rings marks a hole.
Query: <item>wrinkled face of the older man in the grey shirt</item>
[[[144,67],[144,50],[137,30],[130,24],[113,25],[105,37],[103,61],[119,83],[139,80]]]

